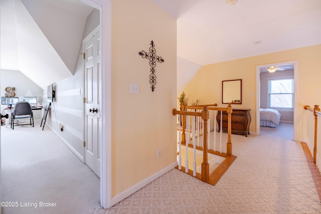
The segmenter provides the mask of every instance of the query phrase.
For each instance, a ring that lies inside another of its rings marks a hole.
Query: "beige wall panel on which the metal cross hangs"
[[[112,1],[111,123],[112,196],[176,161],[176,20],[149,0]],[[138,55],[153,40],[156,85],[150,66]],[[130,83],[139,94],[130,94]],[[157,149],[162,157],[157,158]]]

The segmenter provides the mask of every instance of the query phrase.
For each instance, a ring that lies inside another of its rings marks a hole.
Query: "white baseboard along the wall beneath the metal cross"
[[[110,206],[115,205],[116,203],[118,203],[119,201],[125,199],[126,197],[128,197],[129,195],[131,195],[132,193],[138,191],[139,189],[141,189],[142,187],[144,187],[145,185],[147,185],[148,183],[150,183],[151,181],[155,180],[156,178],[162,176],[163,174],[165,174],[166,172],[172,170],[174,167],[176,167],[178,165],[178,162],[175,161],[174,163],[172,163],[171,165],[165,167],[164,169],[157,171],[156,173],[150,175],[149,177],[143,179],[142,181],[136,183],[135,185],[129,187],[128,189],[120,192],[119,194],[113,196],[111,198],[111,204]]]

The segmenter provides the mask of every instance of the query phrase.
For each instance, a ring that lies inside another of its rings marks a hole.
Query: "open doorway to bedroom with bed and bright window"
[[[257,70],[257,134],[295,140],[295,63],[263,65]]]

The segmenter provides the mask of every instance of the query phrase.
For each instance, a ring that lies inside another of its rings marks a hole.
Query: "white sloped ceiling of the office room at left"
[[[79,4],[1,0],[1,69],[21,71],[43,89],[72,76],[86,18],[93,10]]]

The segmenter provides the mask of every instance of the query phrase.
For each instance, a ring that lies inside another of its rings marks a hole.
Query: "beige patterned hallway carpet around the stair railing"
[[[232,143],[237,158],[215,186],[173,169],[88,213],[321,213],[300,143],[262,135],[232,135]]]

